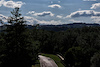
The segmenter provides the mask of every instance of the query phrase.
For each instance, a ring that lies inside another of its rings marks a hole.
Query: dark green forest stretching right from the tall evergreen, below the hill
[[[39,52],[62,54],[67,67],[91,66],[90,59],[100,51],[100,27],[72,28],[61,32],[35,29],[31,34]]]

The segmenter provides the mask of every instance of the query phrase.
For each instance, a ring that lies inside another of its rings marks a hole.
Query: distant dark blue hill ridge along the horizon
[[[82,27],[99,27],[99,24],[89,24],[89,23],[70,23],[62,25],[39,25],[38,29],[49,30],[49,31],[65,31],[68,28],[82,28]],[[36,26],[27,25],[26,28],[34,29]],[[6,29],[5,26],[0,26],[0,31]]]

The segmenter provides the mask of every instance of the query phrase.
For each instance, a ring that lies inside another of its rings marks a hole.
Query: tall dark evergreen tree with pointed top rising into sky
[[[2,58],[2,67],[31,67],[35,62],[36,53],[25,34],[26,24],[21,17],[19,8],[11,12],[6,29],[6,50]]]

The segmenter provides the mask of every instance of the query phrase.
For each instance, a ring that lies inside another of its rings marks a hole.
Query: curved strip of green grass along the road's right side
[[[53,54],[43,54],[43,53],[41,53],[41,55],[52,58],[55,61],[55,63],[58,65],[58,67],[65,67],[61,63],[61,59],[58,56],[53,55]]]

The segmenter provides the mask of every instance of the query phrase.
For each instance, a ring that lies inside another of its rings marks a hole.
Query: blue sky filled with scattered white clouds
[[[7,23],[15,7],[29,25],[100,24],[100,0],[0,0],[0,20]]]

